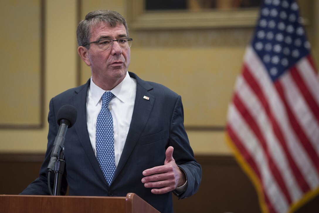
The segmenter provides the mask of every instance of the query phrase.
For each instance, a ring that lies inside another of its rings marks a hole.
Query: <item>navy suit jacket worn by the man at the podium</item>
[[[194,194],[201,181],[201,166],[184,129],[184,115],[181,96],[167,87],[146,82],[129,73],[137,81],[136,99],[125,146],[112,183],[108,185],[94,155],[87,131],[86,97],[90,80],[77,88],[67,90],[52,98],[49,104],[48,146],[40,176],[21,194],[49,194],[47,188],[47,166],[59,125],[56,114],[59,108],[69,104],[78,112],[77,121],[67,130],[64,142],[65,170],[61,194],[69,186],[69,195],[79,196],[126,196],[136,193],[160,212],[173,212],[172,193],[152,194],[145,188],[142,172],[164,165],[165,151],[174,147],[176,164],[185,171],[188,186],[179,198]],[[149,100],[143,97],[149,97]],[[53,185],[54,174],[51,175]]]

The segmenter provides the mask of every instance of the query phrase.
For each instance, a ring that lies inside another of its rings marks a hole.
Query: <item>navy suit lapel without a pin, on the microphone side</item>
[[[96,159],[96,156],[93,152],[93,148],[90,142],[89,133],[87,131],[87,121],[86,121],[86,97],[87,90],[90,86],[90,80],[84,85],[84,87],[78,88],[75,92],[77,95],[73,98],[74,106],[77,106],[78,118],[77,122],[74,124],[75,130],[78,134],[79,141],[83,146],[86,155],[90,159],[92,167],[98,174],[98,176],[103,180],[103,182],[108,185],[107,181],[104,178],[103,172],[100,168],[99,162]]]

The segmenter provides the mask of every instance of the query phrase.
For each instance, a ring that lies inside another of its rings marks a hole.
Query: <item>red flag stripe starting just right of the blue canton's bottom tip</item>
[[[275,83],[275,87],[276,87],[276,89],[278,91],[278,94],[279,94],[280,98],[282,99],[282,101],[283,101],[283,103],[285,105],[286,112],[288,114],[288,118],[289,118],[289,121],[291,123],[291,126],[292,126],[293,130],[295,131],[297,137],[299,138],[302,146],[305,148],[308,156],[311,158],[313,164],[315,165],[315,167],[317,169],[317,172],[319,172],[319,164],[318,164],[319,157],[318,157],[314,147],[311,145],[311,143],[310,143],[308,137],[306,136],[305,132],[300,127],[300,124],[298,123],[297,119],[293,115],[292,110],[290,109],[290,106],[287,103],[287,100],[286,100],[286,97],[285,97],[285,94],[284,94],[284,90],[283,90],[283,88],[282,88],[282,86],[281,86],[279,81],[277,81]],[[308,186],[308,184],[307,184],[307,187],[306,187],[306,185],[304,187],[305,187],[305,189],[307,189],[307,191],[310,190],[310,187]],[[304,192],[307,192],[307,191],[304,191]]]

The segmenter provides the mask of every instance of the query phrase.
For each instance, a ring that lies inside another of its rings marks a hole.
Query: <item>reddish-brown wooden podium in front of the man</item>
[[[126,197],[0,195],[4,213],[155,213],[159,212],[135,193]]]

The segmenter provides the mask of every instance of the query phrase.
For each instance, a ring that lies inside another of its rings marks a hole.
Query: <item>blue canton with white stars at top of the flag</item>
[[[272,81],[309,54],[295,0],[264,0],[252,47],[265,65]]]

